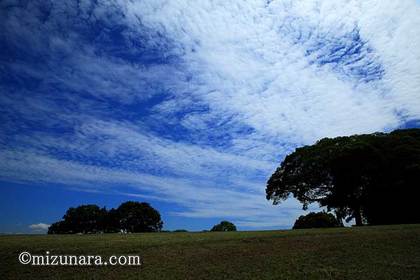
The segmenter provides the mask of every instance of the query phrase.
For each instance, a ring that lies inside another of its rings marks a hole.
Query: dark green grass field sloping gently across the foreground
[[[20,252],[140,255],[129,266],[22,265]],[[0,279],[420,279],[420,225],[0,236]]]

